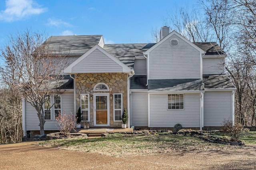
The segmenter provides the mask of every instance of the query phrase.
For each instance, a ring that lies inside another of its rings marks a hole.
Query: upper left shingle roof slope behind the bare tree
[[[102,35],[67,35],[51,36],[46,40],[50,42],[50,49],[54,53],[68,53],[70,55],[83,55],[100,42]]]

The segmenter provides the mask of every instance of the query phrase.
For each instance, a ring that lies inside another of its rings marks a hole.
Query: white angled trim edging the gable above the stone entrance
[[[100,47],[99,45],[95,45],[94,47],[92,47],[90,50],[88,50],[86,53],[84,53],[84,55],[82,55],[81,57],[79,57],[76,61],[74,61],[72,64],[70,64],[67,68],[64,69],[64,72],[66,73],[73,73],[72,68],[74,66],[76,66],[76,64],[80,63],[80,61],[82,61],[83,59],[85,59],[86,57],[88,57],[88,55],[90,55],[91,53],[93,53],[95,50],[99,50],[101,53],[103,53],[104,55],[106,55],[106,57],[108,57],[109,59],[111,59],[112,61],[114,61],[116,64],[118,64],[119,66],[122,67],[122,72],[126,72],[126,73],[130,73],[133,72],[133,69],[126,66],[124,63],[122,63],[120,60],[118,60],[116,57],[114,57],[113,55],[111,55],[110,53],[108,53],[106,50],[104,50],[102,47]],[[81,72],[83,73],[83,72]]]

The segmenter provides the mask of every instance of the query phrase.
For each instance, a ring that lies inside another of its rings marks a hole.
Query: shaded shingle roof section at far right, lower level
[[[236,88],[226,74],[221,75],[203,75],[204,88]]]

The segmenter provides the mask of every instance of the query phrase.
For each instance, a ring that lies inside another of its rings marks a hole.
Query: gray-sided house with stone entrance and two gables
[[[44,129],[57,130],[54,113],[76,113],[90,127],[220,127],[234,123],[234,84],[225,74],[226,54],[214,42],[192,43],[162,27],[158,43],[104,44],[102,35],[52,36],[52,49],[69,49],[65,92],[46,117]],[[23,130],[39,130],[35,109],[25,100]],[[24,133],[25,134],[25,133]]]

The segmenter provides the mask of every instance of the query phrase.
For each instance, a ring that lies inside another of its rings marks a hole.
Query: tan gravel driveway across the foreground
[[[0,169],[255,170],[256,148],[115,158],[26,142],[0,145]]]

